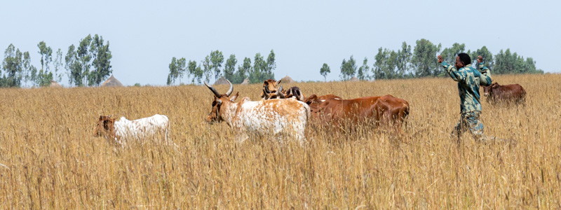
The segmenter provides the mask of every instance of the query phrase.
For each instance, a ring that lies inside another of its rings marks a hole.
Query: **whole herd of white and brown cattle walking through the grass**
[[[260,101],[243,97],[238,102],[235,101],[239,92],[232,94],[234,85],[230,81],[229,90],[224,94],[205,82],[214,94],[212,111],[206,121],[210,124],[226,122],[236,131],[238,142],[248,139],[250,135],[272,135],[279,139],[288,137],[304,144],[304,131],[309,123],[334,129],[375,125],[379,129],[398,131],[410,113],[409,103],[391,94],[356,99],[342,99],[333,94],[311,94],[305,97],[299,87],[283,90],[280,82],[281,80],[265,80]],[[493,83],[483,89],[489,103],[525,102],[526,91],[518,84]],[[162,133],[165,134],[165,141],[171,143],[168,141],[168,130],[167,116],[155,115],[138,120],[122,117],[119,121],[111,116],[100,116],[94,135],[114,139],[124,146],[126,142],[123,139],[142,139]]]

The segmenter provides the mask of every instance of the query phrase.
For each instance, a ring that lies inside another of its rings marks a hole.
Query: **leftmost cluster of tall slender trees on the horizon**
[[[33,66],[29,51],[21,52],[13,44],[4,51],[4,61],[0,71],[0,87],[48,86],[51,80],[60,83],[62,69],[66,69],[70,85],[98,86],[112,72],[109,41],[102,36],[88,35],[79,44],[68,47],[65,57],[60,48],[55,52],[44,41],[37,44],[41,55],[41,69]],[[64,58],[64,63],[62,59]]]

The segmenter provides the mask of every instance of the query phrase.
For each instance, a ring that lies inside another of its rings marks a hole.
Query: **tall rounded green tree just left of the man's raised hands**
[[[438,68],[436,54],[442,45],[434,45],[424,38],[417,40],[416,43],[411,61],[412,66],[416,69],[415,76],[438,76],[442,72],[442,68]]]

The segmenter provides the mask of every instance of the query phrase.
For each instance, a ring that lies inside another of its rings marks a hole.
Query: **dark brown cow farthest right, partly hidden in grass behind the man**
[[[487,97],[487,102],[515,102],[524,103],[526,100],[526,90],[521,85],[499,85],[492,83],[483,87],[483,95]]]

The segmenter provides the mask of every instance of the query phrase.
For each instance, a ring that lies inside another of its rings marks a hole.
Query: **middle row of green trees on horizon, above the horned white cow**
[[[169,65],[170,73],[168,74],[167,84],[172,85],[176,80],[181,83],[183,77],[190,79],[191,83],[198,84],[201,84],[203,79],[209,81],[212,76],[215,79],[224,76],[231,83],[242,83],[245,78],[248,78],[249,83],[262,83],[263,80],[275,78],[273,71],[276,69],[276,62],[273,50],[266,59],[261,53],[257,52],[253,63],[249,57],[245,57],[236,69],[237,63],[238,59],[234,54],[230,55],[224,63],[224,55],[219,50],[210,52],[198,64],[194,60],[187,62],[184,57],[180,59],[173,57]]]

